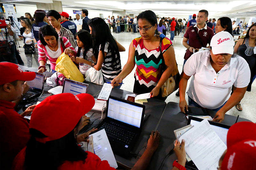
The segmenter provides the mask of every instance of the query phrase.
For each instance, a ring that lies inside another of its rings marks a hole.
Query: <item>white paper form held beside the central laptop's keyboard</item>
[[[117,168],[116,159],[109,144],[105,129],[93,133],[90,137],[91,136],[93,137],[93,148],[95,154],[100,157],[101,160],[107,160],[111,167]]]

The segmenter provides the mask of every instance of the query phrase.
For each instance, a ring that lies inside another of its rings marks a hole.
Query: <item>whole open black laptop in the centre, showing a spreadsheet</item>
[[[106,117],[97,127],[105,129],[115,154],[129,157],[140,135],[145,105],[109,96]]]

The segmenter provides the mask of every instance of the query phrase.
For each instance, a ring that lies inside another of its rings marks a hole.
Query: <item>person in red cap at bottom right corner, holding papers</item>
[[[172,170],[185,169],[185,141],[175,142],[174,151],[178,158]],[[219,160],[218,170],[255,170],[256,169],[256,124],[238,122],[231,126],[227,135],[227,150]]]

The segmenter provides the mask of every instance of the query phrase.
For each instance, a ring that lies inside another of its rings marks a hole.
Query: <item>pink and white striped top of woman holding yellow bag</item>
[[[73,34],[72,34],[72,36],[73,36]],[[69,49],[75,51],[75,56],[76,56],[76,50],[71,46],[71,44],[68,41],[68,39],[66,37],[62,37],[62,41],[63,41],[63,43],[65,45],[65,48],[69,48]],[[41,43],[40,40],[37,42],[37,48],[38,48],[38,62],[43,60],[46,63],[46,57],[47,57],[49,59],[49,61],[50,61],[51,69],[55,70],[56,61],[57,61],[58,57],[57,58],[50,57],[48,52],[47,52],[47,50],[46,50],[46,48],[45,48],[45,46]],[[61,48],[61,53],[63,53],[64,50],[63,50],[62,46],[60,46],[60,48]]]

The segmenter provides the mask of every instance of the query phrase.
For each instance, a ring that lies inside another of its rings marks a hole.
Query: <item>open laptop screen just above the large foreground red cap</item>
[[[72,93],[74,95],[87,93],[88,84],[65,79],[62,93]]]

